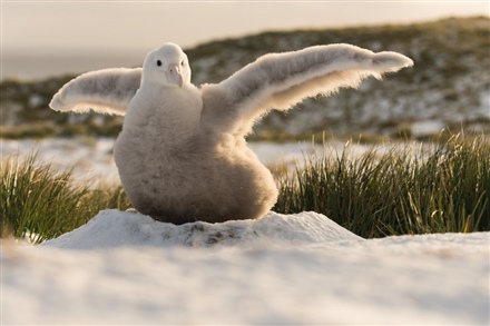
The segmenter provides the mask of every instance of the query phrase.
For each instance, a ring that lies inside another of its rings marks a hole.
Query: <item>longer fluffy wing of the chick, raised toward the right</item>
[[[271,109],[287,110],[304,98],[355,88],[369,76],[380,79],[412,65],[396,52],[374,53],[350,45],[265,55],[218,85],[204,85],[203,116],[242,136]]]

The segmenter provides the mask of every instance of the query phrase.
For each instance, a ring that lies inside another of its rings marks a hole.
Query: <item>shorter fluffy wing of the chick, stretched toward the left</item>
[[[66,83],[51,99],[56,111],[126,115],[129,101],[139,89],[141,68],[91,71]]]

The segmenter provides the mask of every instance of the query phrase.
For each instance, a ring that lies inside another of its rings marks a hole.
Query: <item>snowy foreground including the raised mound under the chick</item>
[[[489,324],[490,233],[362,239],[315,213],[180,226],[104,210],[2,243],[8,324]]]

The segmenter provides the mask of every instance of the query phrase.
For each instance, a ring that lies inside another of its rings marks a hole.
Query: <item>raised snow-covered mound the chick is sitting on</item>
[[[257,220],[228,220],[222,224],[195,221],[173,225],[149,216],[116,209],[102,210],[88,224],[41,246],[68,249],[99,249],[120,246],[253,246],[308,245],[361,237],[313,211],[281,215],[271,211]]]

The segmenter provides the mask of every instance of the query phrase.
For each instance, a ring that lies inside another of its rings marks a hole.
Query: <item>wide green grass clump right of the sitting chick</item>
[[[283,177],[274,210],[314,210],[366,238],[490,229],[490,144],[483,136],[379,146],[357,158],[350,148],[306,158],[304,169]]]

